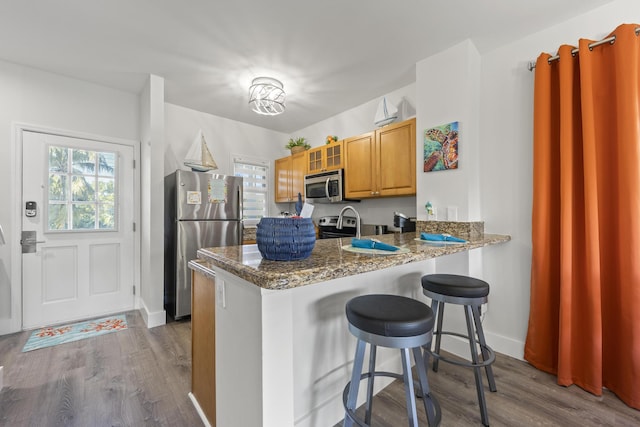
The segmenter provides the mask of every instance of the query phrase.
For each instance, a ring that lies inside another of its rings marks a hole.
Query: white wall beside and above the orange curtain
[[[512,236],[483,249],[483,275],[492,286],[485,328],[493,335],[488,339],[500,343],[494,344],[498,351],[522,357],[529,316],[535,71],[526,65],[543,51],[575,46],[579,38],[602,39],[627,22],[640,23],[636,0],[615,1],[482,56],[482,220],[486,230]]]

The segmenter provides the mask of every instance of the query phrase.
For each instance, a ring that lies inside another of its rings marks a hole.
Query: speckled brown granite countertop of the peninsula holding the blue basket
[[[342,249],[342,246],[349,245],[351,238],[342,238],[317,240],[311,256],[300,261],[263,259],[258,246],[253,244],[200,249],[198,264],[201,267],[206,265],[207,268],[221,268],[265,289],[291,289],[511,240],[508,235],[482,234],[471,238],[468,243],[443,244],[416,240],[419,236],[419,233],[370,236],[381,242],[402,247],[404,253],[399,254],[391,252],[389,255],[372,255],[348,252]]]

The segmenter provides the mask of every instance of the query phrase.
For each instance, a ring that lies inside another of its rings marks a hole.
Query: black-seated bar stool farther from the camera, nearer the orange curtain
[[[438,361],[440,360],[473,368],[482,424],[488,426],[489,414],[487,413],[487,403],[482,385],[482,368],[485,368],[487,374],[489,390],[495,392],[497,389],[491,364],[496,360],[496,355],[484,339],[482,322],[480,321],[480,306],[488,300],[489,284],[480,279],[456,274],[428,274],[422,277],[422,289],[423,293],[431,298],[431,309],[437,316],[435,331],[433,333],[436,337],[435,349],[431,351],[430,346],[425,347],[428,349],[428,353],[434,358],[433,370],[434,372],[438,371]],[[467,321],[467,335],[442,330],[445,303],[464,306],[464,314]],[[471,362],[441,356],[440,340],[442,335],[455,335],[467,339],[469,341],[469,347],[471,348]],[[476,335],[478,342],[476,342]],[[478,358],[478,346],[482,353],[482,360]]]

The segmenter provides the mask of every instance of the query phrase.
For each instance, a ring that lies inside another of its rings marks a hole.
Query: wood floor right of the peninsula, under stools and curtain
[[[576,386],[561,387],[555,376],[501,354],[496,355],[493,373],[497,392],[491,393],[483,378],[492,427],[640,426],[640,411],[628,407],[608,390],[597,397]],[[470,368],[440,362],[438,372],[429,370],[427,375],[442,407],[441,427],[482,425]],[[365,384],[360,386],[361,393]],[[417,407],[420,425],[426,426],[422,401]],[[404,385],[399,381],[374,397],[373,408],[372,424],[376,427],[408,425]],[[338,426],[342,423],[335,425]]]

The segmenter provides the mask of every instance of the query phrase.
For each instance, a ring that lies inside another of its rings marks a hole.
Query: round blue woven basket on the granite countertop
[[[316,229],[311,218],[262,218],[256,243],[265,259],[301,260],[311,255],[316,244]]]

